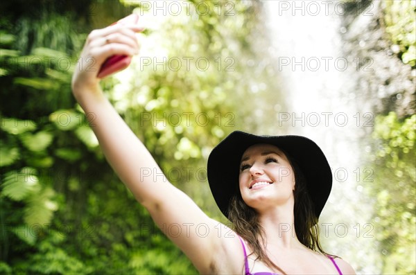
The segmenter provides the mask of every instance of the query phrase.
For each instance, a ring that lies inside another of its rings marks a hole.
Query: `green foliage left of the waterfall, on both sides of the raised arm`
[[[105,162],[85,118],[94,114],[84,114],[70,90],[71,68],[91,30],[79,28],[89,19],[75,21],[71,10],[61,14],[54,5],[18,24],[11,24],[10,14],[0,20],[1,96],[8,99],[0,103],[0,273],[196,274]],[[92,10],[121,6],[100,5],[94,2]],[[253,85],[242,81],[253,73],[246,62],[255,57],[246,41],[255,19],[250,5],[236,2],[232,17],[172,17],[141,37],[150,47],[159,43],[157,51],[168,57],[202,57],[207,70],[195,69],[195,62],[189,71],[140,70],[136,63],[130,69],[137,78],[118,80],[120,73],[103,81],[173,184],[214,217],[220,214],[209,195],[205,161],[212,146],[243,122],[237,120],[243,110],[235,107]],[[153,53],[144,49],[144,56]],[[148,120],[171,114],[180,114],[171,118],[181,123]]]

